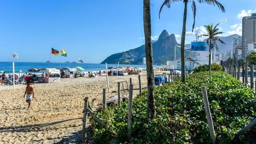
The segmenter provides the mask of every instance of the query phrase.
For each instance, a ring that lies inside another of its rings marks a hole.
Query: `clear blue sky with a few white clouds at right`
[[[196,28],[188,5],[186,43],[195,34],[205,33],[203,26],[220,23],[222,36],[240,34],[241,20],[256,12],[255,0],[218,0],[226,9],[197,3]],[[163,0],[151,0],[152,37],[162,30],[175,34],[180,42],[184,4],[164,7]],[[16,52],[22,62],[45,62],[50,49],[65,49],[68,57],[51,55],[52,62],[78,61],[100,63],[109,55],[144,44],[143,0],[0,0],[0,61],[13,61]]]

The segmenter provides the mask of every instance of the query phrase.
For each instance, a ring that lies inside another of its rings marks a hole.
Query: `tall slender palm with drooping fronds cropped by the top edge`
[[[160,8],[160,11],[159,11],[159,18],[160,18],[160,14],[161,14],[161,11],[162,11],[164,5],[166,5],[168,8],[170,8],[170,4],[177,2],[177,1],[182,1],[184,3],[180,54],[181,54],[181,82],[185,83],[185,53],[184,53],[184,51],[185,51],[186,21],[187,21],[187,3],[192,2],[191,8],[192,8],[193,18],[194,18],[192,32],[193,32],[195,20],[196,20],[196,10],[197,10],[196,1],[198,3],[207,3],[210,5],[214,5],[214,6],[217,5],[217,7],[222,10],[222,12],[225,12],[225,8],[223,7],[223,5],[220,2],[218,2],[218,0],[164,0],[162,6]]]

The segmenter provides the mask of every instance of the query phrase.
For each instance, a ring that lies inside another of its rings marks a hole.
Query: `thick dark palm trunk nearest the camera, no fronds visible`
[[[155,97],[154,97],[154,70],[153,70],[153,49],[151,42],[151,14],[150,0],[143,1],[143,22],[145,35],[145,52],[147,61],[148,80],[148,118],[155,118]]]

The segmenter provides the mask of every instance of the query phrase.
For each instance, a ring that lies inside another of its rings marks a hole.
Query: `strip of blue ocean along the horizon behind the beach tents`
[[[28,72],[31,68],[63,68],[63,67],[76,67],[81,66],[84,70],[88,71],[99,71],[105,70],[105,64],[79,64],[79,63],[46,63],[46,62],[15,62],[15,73]],[[117,64],[108,64],[108,67],[116,67]],[[130,67],[145,67],[145,65],[124,65],[119,66],[130,66]],[[0,62],[0,73],[13,73],[13,62]]]

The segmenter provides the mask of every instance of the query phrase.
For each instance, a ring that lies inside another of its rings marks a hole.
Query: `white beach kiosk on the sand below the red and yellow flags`
[[[60,70],[56,68],[41,68],[40,71],[47,74],[47,77],[38,78],[40,83],[56,83],[60,82]]]

